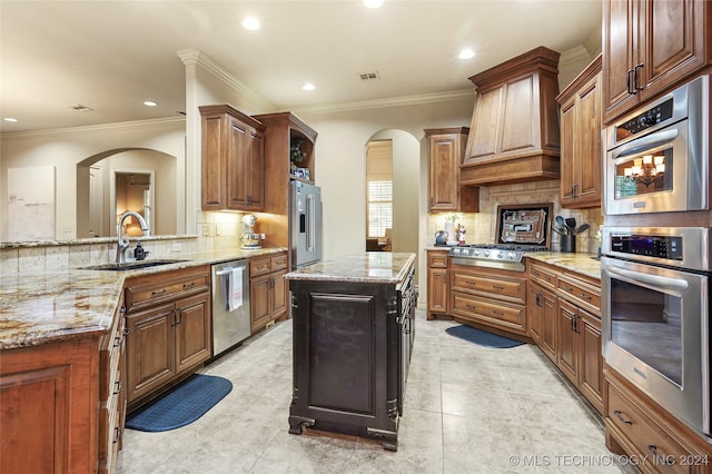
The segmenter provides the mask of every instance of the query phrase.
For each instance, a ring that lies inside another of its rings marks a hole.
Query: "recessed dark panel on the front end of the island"
[[[309,405],[373,414],[374,297],[313,295],[310,306]]]

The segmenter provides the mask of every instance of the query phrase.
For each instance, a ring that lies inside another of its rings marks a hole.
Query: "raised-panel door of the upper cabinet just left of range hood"
[[[454,135],[434,135],[428,146],[428,210],[457,210],[459,150]]]

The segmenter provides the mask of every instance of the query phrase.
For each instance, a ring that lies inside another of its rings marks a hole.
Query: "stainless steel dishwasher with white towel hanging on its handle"
[[[212,265],[212,355],[250,335],[247,259]]]

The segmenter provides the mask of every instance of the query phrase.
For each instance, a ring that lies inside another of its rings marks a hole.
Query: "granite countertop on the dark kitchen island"
[[[323,260],[288,273],[290,280],[398,284],[415,263],[415,254],[365,251]]]

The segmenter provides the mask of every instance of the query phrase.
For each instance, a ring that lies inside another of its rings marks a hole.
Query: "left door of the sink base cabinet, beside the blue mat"
[[[175,374],[174,304],[127,316],[127,401],[170,381]]]

